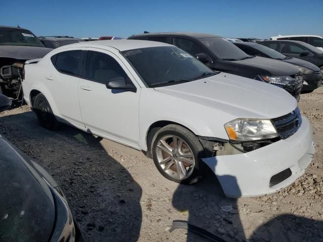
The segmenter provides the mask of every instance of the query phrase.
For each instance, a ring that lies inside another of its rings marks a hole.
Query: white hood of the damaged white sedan
[[[283,88],[227,73],[155,90],[230,113],[236,118],[274,118],[297,107],[296,99]]]

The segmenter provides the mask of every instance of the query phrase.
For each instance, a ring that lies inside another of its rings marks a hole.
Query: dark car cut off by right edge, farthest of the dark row
[[[303,59],[319,67],[323,72],[323,50],[313,45],[296,40],[267,40],[259,42],[287,56]]]

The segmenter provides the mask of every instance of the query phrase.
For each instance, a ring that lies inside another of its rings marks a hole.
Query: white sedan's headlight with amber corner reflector
[[[225,124],[230,140],[254,141],[278,137],[276,128],[271,120],[238,118]]]

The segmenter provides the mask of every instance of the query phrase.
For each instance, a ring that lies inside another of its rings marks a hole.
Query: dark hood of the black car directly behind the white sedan
[[[260,56],[231,62],[244,65],[246,67],[251,66],[262,69],[266,72],[269,72],[272,76],[292,76],[299,73],[298,68],[290,65],[289,63],[284,63],[276,59],[270,59]]]

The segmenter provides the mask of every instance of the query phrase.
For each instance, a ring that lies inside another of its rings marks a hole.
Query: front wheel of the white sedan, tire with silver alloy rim
[[[152,139],[151,154],[158,171],[169,180],[193,184],[201,177],[203,147],[192,132],[181,126],[159,129]]]

